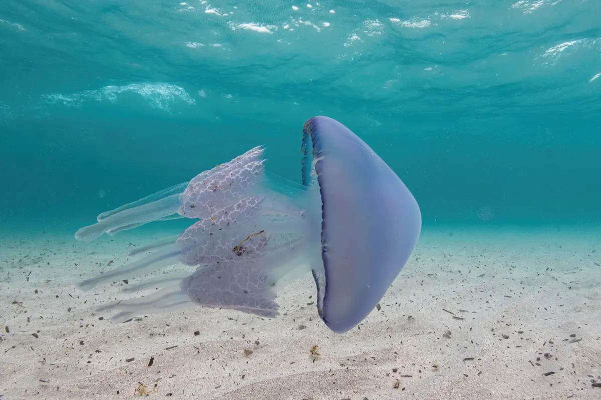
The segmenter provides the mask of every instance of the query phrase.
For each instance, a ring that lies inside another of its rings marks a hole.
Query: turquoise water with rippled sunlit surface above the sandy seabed
[[[298,181],[314,115],[397,172],[424,226],[601,217],[594,1],[150,3],[0,4],[6,227],[74,231],[261,144]]]

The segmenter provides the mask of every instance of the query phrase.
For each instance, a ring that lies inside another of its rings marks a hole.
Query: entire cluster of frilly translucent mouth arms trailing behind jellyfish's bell
[[[200,173],[185,188],[175,185],[99,215],[96,224],[78,231],[78,240],[93,240],[103,233],[115,234],[161,219],[200,221],[179,236],[133,249],[130,255],[144,254],[142,258],[87,279],[79,288],[119,282],[121,289],[120,281],[127,278],[137,279],[123,287],[126,293],[161,288],[103,306],[122,311],[115,320],[194,303],[265,317],[277,315],[278,290],[310,272],[313,263],[308,254],[320,249],[321,204],[317,204],[316,186],[266,176],[264,161],[259,146]],[[165,269],[174,264],[198,268],[192,274],[182,266]]]

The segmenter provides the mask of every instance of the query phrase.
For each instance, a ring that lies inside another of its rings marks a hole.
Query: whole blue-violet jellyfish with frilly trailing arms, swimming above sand
[[[103,306],[123,321],[186,306],[278,315],[278,291],[306,273],[317,288],[317,314],[335,333],[357,326],[409,260],[421,230],[418,203],[392,169],[349,128],[316,116],[302,132],[301,184],[266,170],[258,146],[228,163],[144,199],[105,212],[78,240],[147,222],[194,219],[182,234],[134,249],[147,253],[79,284],[145,276],[128,287],[146,296]]]

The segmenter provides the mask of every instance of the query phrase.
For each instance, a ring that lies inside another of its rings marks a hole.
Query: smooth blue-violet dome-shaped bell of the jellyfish
[[[400,178],[340,122],[311,118],[304,139],[322,203],[317,309],[331,330],[346,332],[367,317],[409,259],[421,213]]]

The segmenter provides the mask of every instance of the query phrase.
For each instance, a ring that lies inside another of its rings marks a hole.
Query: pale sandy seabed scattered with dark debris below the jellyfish
[[[308,305],[310,276],[281,293],[273,320],[196,307],[111,324],[94,309],[122,285],[75,282],[123,263],[128,242],[145,242],[135,232],[0,239],[2,400],[133,398],[139,383],[174,399],[601,398],[592,228],[425,230],[380,311],[344,335]]]

